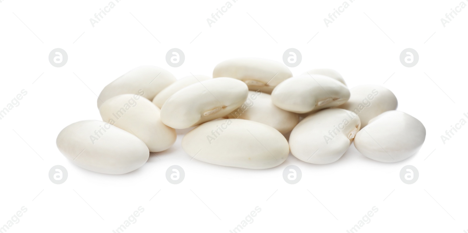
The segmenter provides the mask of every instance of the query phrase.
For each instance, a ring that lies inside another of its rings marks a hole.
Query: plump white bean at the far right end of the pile
[[[417,153],[426,138],[424,125],[401,111],[387,111],[369,121],[354,138],[354,146],[367,158],[398,162]]]

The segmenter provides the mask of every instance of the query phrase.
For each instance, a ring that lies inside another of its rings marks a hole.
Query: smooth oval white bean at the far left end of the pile
[[[57,137],[57,147],[77,166],[105,174],[131,172],[149,158],[148,147],[139,138],[96,120],[65,127]]]

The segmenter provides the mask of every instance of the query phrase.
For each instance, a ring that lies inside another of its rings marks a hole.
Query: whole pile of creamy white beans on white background
[[[252,169],[276,167],[290,151],[308,163],[332,163],[353,141],[370,159],[397,162],[424,143],[424,125],[396,110],[390,90],[349,89],[331,69],[293,77],[276,61],[234,58],[212,76],[177,80],[159,67],[135,68],[102,90],[102,121],[76,122],[59,133],[59,151],[88,170],[124,174],[143,166],[150,152],[173,146],[176,129],[190,127],[182,139],[190,157]]]

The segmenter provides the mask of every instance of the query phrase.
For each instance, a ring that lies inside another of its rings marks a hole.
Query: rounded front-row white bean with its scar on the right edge
[[[360,129],[359,117],[344,109],[323,109],[294,127],[289,147],[296,158],[314,164],[341,158]]]

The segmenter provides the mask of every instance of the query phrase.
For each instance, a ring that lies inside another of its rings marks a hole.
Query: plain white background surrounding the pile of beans
[[[239,0],[212,27],[206,19],[227,0],[122,0],[92,27],[89,19],[109,1],[0,3],[0,108],[22,89],[28,92],[0,120],[0,226],[22,206],[28,209],[8,233],[110,233],[139,206],[145,211],[125,233],[228,233],[256,206],[262,210],[242,233],[345,233],[373,206],[379,210],[359,233],[468,231],[468,126],[445,145],[440,138],[468,112],[468,7],[446,27],[440,22],[462,0],[356,0],[329,27],[323,19],[344,0]],[[61,68],[48,60],[55,48],[68,54]],[[166,63],[171,48],[185,53],[182,66]],[[184,131],[178,131],[173,147],[151,155],[138,170],[103,175],[74,166],[55,145],[68,124],[100,120],[96,95],[132,68],[160,66],[178,78],[211,75],[228,58],[282,62],[288,48],[302,53],[300,65],[291,68],[295,75],[333,68],[349,87],[392,90],[398,109],[426,127],[419,153],[381,163],[351,145],[332,164],[308,164],[290,155],[278,167],[249,170],[190,161],[180,147]],[[419,53],[412,68],[399,60],[406,48]],[[54,165],[68,170],[65,183],[49,180]],[[166,180],[171,165],[185,170],[182,183]],[[283,180],[288,165],[302,170],[299,183]],[[416,183],[400,180],[405,165],[419,170]]]

